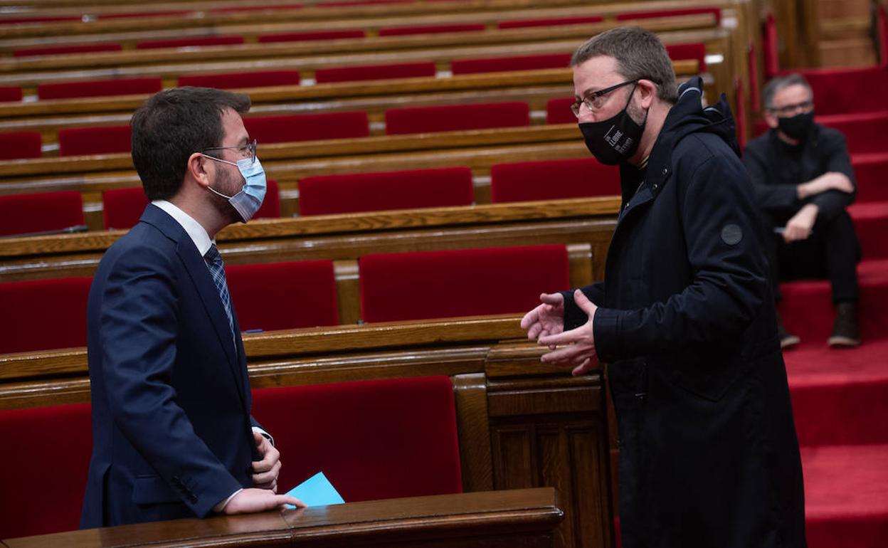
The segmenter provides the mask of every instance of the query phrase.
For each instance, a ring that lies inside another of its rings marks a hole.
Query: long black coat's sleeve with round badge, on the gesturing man
[[[601,361],[731,340],[762,306],[767,292],[765,257],[741,164],[710,155],[691,175],[678,214],[684,234],[676,237],[685,239],[693,281],[646,308],[599,308],[593,331]]]

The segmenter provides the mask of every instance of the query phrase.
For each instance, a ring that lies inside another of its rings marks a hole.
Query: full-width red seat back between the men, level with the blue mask
[[[471,205],[466,167],[322,175],[299,181],[299,214]]]

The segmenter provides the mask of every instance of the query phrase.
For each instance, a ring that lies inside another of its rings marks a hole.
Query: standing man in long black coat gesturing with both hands
[[[579,375],[606,361],[625,548],[799,548],[802,468],[749,175],[724,98],[676,90],[656,36],[580,46],[575,114],[619,163],[605,281],[543,294],[521,322]]]

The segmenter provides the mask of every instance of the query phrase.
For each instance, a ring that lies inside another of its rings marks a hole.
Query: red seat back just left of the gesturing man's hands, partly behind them
[[[523,313],[569,287],[564,245],[365,255],[359,265],[365,322]]]

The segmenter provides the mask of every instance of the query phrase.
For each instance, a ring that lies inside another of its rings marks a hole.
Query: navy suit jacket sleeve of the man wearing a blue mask
[[[115,425],[196,515],[242,488],[176,403],[176,281],[170,259],[142,246],[116,258],[99,309],[101,375]]]

